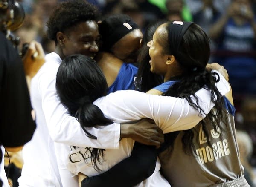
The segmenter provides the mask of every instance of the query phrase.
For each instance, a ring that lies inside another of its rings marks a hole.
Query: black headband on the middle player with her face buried
[[[105,40],[103,40],[103,46],[105,49],[110,50],[110,48],[122,37],[127,35],[134,29],[138,29],[138,25],[132,20],[122,23],[116,26],[116,29],[111,33],[105,33]]]

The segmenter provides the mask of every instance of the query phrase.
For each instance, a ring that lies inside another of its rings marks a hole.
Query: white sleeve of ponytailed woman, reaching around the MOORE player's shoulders
[[[222,95],[230,90],[229,84],[222,75],[216,86]],[[207,89],[200,89],[195,93],[199,100],[198,105],[205,113],[203,115],[198,115],[198,110],[190,106],[185,98],[148,95],[132,90],[112,93],[102,99],[108,101],[99,106],[104,114],[115,121],[151,118],[164,133],[168,133],[195,127],[214,106],[210,94]]]

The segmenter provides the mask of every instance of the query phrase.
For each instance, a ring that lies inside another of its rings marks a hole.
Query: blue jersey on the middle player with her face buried
[[[108,88],[108,94],[117,90],[135,89],[134,80],[138,68],[131,63],[123,63],[114,83]]]

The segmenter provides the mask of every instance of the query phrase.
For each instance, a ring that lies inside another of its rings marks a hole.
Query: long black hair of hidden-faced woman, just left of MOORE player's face
[[[166,23],[166,20],[156,20],[149,23],[145,29],[143,45],[140,48],[140,52],[137,58],[137,63],[139,63],[140,66],[138,69],[137,78],[135,80],[136,89],[140,90],[141,92],[147,92],[155,86],[163,83],[163,77],[161,75],[150,72],[150,56],[148,53],[149,47],[147,46],[147,43],[152,40],[157,27],[163,23]]]

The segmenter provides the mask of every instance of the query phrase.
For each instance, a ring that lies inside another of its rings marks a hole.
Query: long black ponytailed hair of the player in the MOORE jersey
[[[172,29],[170,29],[171,24],[171,22],[166,24],[167,33],[172,32]],[[165,53],[172,55],[168,35],[163,35],[166,37],[164,39],[166,41],[164,43]],[[209,56],[209,37],[200,26],[192,23],[183,35],[175,54],[176,60],[183,69],[183,74],[179,76],[180,81],[177,81],[163,95],[186,98],[190,106],[197,109],[199,113],[204,114],[204,111],[198,106],[198,97],[195,95],[195,92],[203,87],[211,90],[211,101],[215,104],[214,109],[199,124],[202,125],[202,129],[207,137],[207,144],[212,147],[209,133],[206,130],[206,124],[211,124],[215,132],[220,133],[220,129],[223,130],[220,124],[221,122],[224,123],[227,112],[223,109],[223,97],[215,86],[215,83],[218,81],[218,75],[216,77],[214,73],[205,69]],[[195,102],[190,95],[195,98]],[[194,129],[184,130],[183,132],[182,143],[184,152],[187,154],[195,152],[192,141]]]

